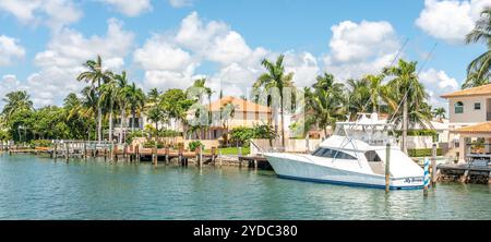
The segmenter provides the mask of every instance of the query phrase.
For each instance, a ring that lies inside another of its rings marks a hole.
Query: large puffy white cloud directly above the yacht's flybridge
[[[391,64],[400,46],[388,22],[345,21],[331,31],[331,53],[324,57],[325,70],[340,81],[380,72]]]

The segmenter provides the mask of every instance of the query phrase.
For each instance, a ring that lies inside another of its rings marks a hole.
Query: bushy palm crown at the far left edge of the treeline
[[[9,122],[13,113],[22,110],[33,110],[33,101],[25,90],[11,92],[2,99],[5,105],[2,109],[2,116]]]

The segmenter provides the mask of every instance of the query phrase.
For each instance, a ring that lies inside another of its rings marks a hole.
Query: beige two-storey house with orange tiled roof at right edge
[[[491,157],[491,84],[445,94],[442,98],[448,99],[450,106],[448,155],[459,162]],[[478,140],[480,148],[471,145]]]

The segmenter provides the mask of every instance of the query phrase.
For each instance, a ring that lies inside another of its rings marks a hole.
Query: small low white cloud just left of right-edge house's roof
[[[446,101],[440,98],[441,95],[458,89],[458,83],[450,77],[444,71],[429,69],[419,75],[420,82],[424,85],[429,94],[430,105],[434,107],[445,107]]]

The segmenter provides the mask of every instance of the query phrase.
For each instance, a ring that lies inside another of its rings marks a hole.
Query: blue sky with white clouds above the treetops
[[[85,85],[76,75],[97,55],[145,90],[206,77],[216,94],[239,96],[264,72],[261,60],[280,53],[302,87],[323,72],[342,83],[376,74],[400,52],[418,61],[431,105],[446,107],[440,95],[459,89],[467,64],[486,51],[464,38],[488,5],[491,0],[0,0],[0,97],[24,89],[35,107],[61,105]]]

